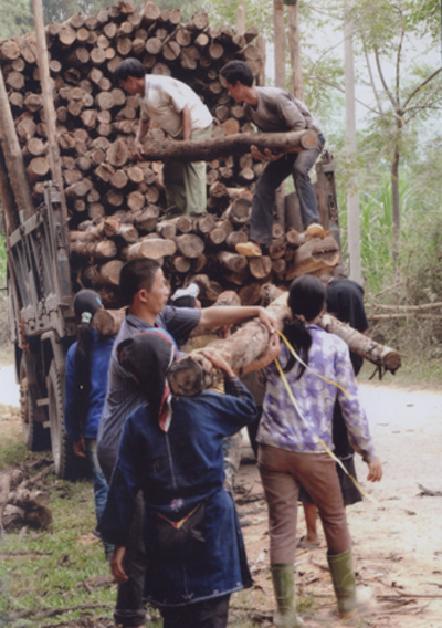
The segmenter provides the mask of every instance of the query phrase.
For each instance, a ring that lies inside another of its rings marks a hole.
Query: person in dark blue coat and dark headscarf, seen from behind
[[[124,582],[125,544],[143,491],[145,597],[160,608],[165,628],[224,628],[230,595],[252,582],[234,502],[223,488],[222,440],[253,421],[256,407],[220,355],[201,353],[224,373],[225,395],[170,394],[166,373],[177,349],[164,329],[117,348],[147,404],[125,421],[98,530],[115,545],[110,567]]]

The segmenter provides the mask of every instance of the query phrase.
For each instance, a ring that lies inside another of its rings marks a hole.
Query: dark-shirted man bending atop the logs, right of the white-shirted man
[[[225,80],[229,95],[236,103],[245,103],[244,112],[252,122],[267,133],[303,130],[312,128],[318,133],[319,142],[316,148],[302,153],[274,155],[253,146],[252,157],[269,159],[256,184],[250,222],[250,242],[238,244],[236,251],[246,257],[262,254],[262,245],[272,243],[273,206],[275,191],[288,177],[293,176],[299,200],[304,229],[309,236],[325,237],[324,228],[319,224],[319,210],[315,191],[308,171],[323,150],[325,138],[316,119],[307,107],[285,90],[277,87],[255,87],[253,74],[243,61],[230,61],[222,67],[221,76]]]

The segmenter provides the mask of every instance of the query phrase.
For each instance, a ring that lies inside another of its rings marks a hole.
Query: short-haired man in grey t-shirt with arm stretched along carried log
[[[178,345],[181,345],[187,342],[190,332],[196,327],[222,327],[255,316],[270,333],[276,327],[276,321],[272,315],[259,306],[193,310],[167,305],[169,286],[160,264],[151,259],[135,259],[127,262],[119,275],[119,291],[122,302],[128,305],[128,311],[115,339],[110,357],[106,400],[97,436],[98,460],[107,480],[110,480],[117,460],[124,421],[146,401],[144,390],[118,364],[119,343],[141,332],[161,327],[169,332]],[[125,571],[128,580],[118,585],[114,613],[116,624],[127,628],[143,628],[146,619],[146,607],[143,603],[145,575],[143,512],[143,500],[139,495],[126,546]]]

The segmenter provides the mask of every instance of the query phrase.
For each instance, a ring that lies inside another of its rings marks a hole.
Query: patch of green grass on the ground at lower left
[[[4,411],[6,410],[6,411]],[[9,410],[0,409],[2,418]],[[21,443],[20,423],[10,428],[8,443],[1,448],[0,468],[39,467],[48,452],[31,453]],[[2,425],[4,421],[2,420]],[[67,625],[91,611],[57,613],[52,619],[39,619],[42,609],[63,609],[81,605],[106,605],[93,613],[112,618],[116,587],[109,580],[97,587],[97,576],[108,576],[101,542],[95,528],[92,484],[88,481],[63,482],[53,473],[45,483],[51,494],[53,523],[44,531],[8,532],[0,541],[0,626],[17,628]],[[88,584],[88,580],[91,584]]]

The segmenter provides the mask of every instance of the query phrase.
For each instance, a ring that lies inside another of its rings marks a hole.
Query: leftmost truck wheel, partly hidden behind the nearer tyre
[[[51,440],[49,429],[41,421],[35,420],[36,399],[28,385],[27,359],[20,362],[20,414],[23,442],[31,451],[50,449]]]

